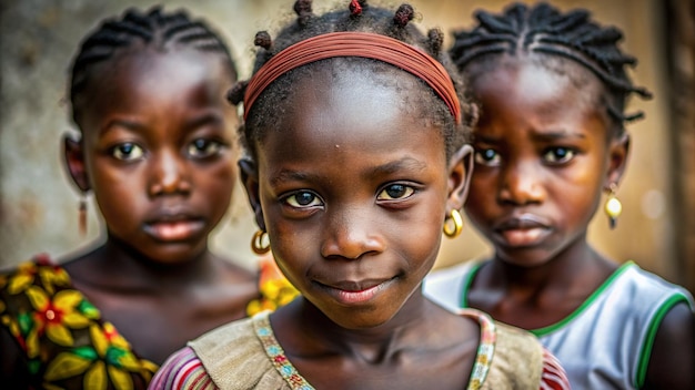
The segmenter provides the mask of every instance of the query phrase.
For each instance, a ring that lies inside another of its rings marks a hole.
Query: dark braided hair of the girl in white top
[[[473,76],[504,54],[521,57],[541,53],[568,59],[590,70],[604,85],[606,96],[601,103],[615,122],[617,134],[624,132],[625,122],[644,116],[642,112],[624,113],[629,94],[652,98],[649,91],[635,86],[625,71],[625,65],[636,65],[636,59],[618,49],[622,32],[614,27],[596,24],[588,11],[561,13],[543,2],[531,8],[513,3],[503,14],[477,11],[475,19],[479,24],[474,29],[454,33],[455,41],[450,49],[454,63],[463,74]],[[541,63],[547,66],[547,62]]]

